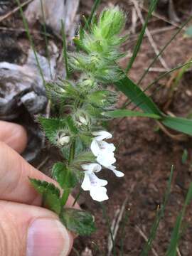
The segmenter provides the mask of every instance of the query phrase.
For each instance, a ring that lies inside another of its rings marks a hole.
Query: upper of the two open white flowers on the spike
[[[92,154],[97,156],[97,162],[102,166],[111,166],[116,161],[113,153],[115,146],[112,143],[104,142],[103,139],[112,138],[112,134],[106,131],[93,132],[92,134],[96,136],[90,146]]]

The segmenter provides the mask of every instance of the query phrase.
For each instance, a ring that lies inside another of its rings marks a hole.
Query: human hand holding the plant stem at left
[[[18,154],[26,143],[23,127],[0,121],[0,255],[67,256],[73,235],[55,213],[40,207],[28,176],[57,183]],[[70,197],[67,205],[72,203]]]

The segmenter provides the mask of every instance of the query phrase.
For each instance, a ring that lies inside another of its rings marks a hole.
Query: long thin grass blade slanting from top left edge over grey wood
[[[19,11],[20,11],[20,14],[21,14],[21,18],[22,18],[22,20],[23,20],[23,26],[24,26],[25,29],[26,29],[26,33],[27,33],[27,36],[28,36],[28,40],[29,40],[29,42],[30,42],[30,44],[31,44],[31,48],[33,49],[33,53],[34,53],[35,58],[36,58],[36,63],[37,63],[38,70],[39,70],[39,73],[40,73],[40,75],[41,75],[41,78],[42,78],[42,80],[43,80],[43,84],[46,85],[46,80],[45,80],[44,75],[43,75],[43,70],[41,69],[41,65],[40,65],[40,63],[39,63],[39,61],[38,61],[38,56],[37,56],[37,53],[36,53],[36,48],[35,48],[35,46],[34,46],[33,39],[32,39],[32,37],[31,37],[31,33],[30,33],[30,31],[29,31],[29,28],[28,28],[28,23],[27,23],[27,21],[26,21],[26,17],[25,17],[24,14],[23,14],[23,9],[22,9],[20,0],[16,0],[16,3],[18,4]]]

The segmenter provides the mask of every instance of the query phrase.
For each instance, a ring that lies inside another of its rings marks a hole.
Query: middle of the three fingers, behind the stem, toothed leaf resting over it
[[[41,196],[31,186],[28,177],[52,182],[58,186],[52,178],[28,164],[16,151],[3,142],[0,142],[0,163],[1,200],[41,206]],[[70,196],[67,206],[72,206],[72,204],[73,197]]]

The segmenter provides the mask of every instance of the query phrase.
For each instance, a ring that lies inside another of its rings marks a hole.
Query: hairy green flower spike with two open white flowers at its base
[[[117,177],[114,163],[115,146],[105,142],[112,134],[105,131],[105,111],[113,110],[117,93],[107,90],[107,85],[122,78],[116,64],[122,57],[119,46],[125,38],[119,36],[124,27],[125,15],[118,6],[105,9],[90,27],[80,28],[74,38],[76,51],[68,53],[70,73],[77,80],[59,80],[47,85],[48,94],[63,119],[41,119],[48,138],[60,147],[68,160],[67,168],[81,183],[84,191],[96,201],[108,199],[107,181],[96,176],[102,168],[110,169]],[[56,123],[56,121],[57,123]],[[73,159],[70,159],[74,147]]]

